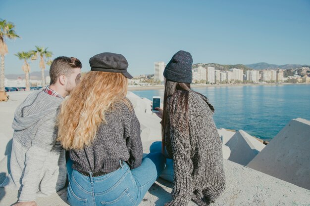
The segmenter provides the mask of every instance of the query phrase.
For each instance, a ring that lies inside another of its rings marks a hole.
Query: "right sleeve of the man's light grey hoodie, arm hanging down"
[[[32,140],[32,145],[25,154],[25,170],[22,178],[22,191],[19,202],[34,201],[39,190],[40,174],[47,155],[54,145],[57,130],[55,117],[43,121]]]

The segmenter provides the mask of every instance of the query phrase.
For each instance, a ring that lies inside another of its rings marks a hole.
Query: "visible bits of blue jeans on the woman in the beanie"
[[[161,141],[159,142],[153,142],[153,144],[150,146],[150,153],[155,152],[161,152]],[[165,150],[165,156],[166,156],[166,167],[161,172],[160,177],[162,179],[165,179],[169,182],[173,182],[173,160],[168,158],[167,151]]]

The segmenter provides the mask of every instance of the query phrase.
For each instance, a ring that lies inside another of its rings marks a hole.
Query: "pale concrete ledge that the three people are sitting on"
[[[224,160],[226,189],[211,206],[309,206],[310,190]],[[172,184],[159,178],[140,206],[163,206],[171,200]],[[17,191],[0,188],[0,206],[17,200]],[[38,198],[38,206],[68,206],[66,189],[46,198]],[[189,206],[196,206],[190,202]]]

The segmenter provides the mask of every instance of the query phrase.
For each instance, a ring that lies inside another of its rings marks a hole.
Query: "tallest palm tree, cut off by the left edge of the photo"
[[[1,55],[1,71],[0,71],[0,91],[4,91],[4,55],[8,53],[5,38],[15,39],[19,36],[15,33],[15,25],[6,20],[0,19],[0,55]]]

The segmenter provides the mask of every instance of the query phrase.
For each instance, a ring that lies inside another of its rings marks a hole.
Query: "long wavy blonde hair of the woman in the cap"
[[[88,72],[61,105],[58,138],[64,149],[82,149],[95,138],[104,113],[113,111],[118,101],[132,106],[126,98],[127,78],[120,73]]]

